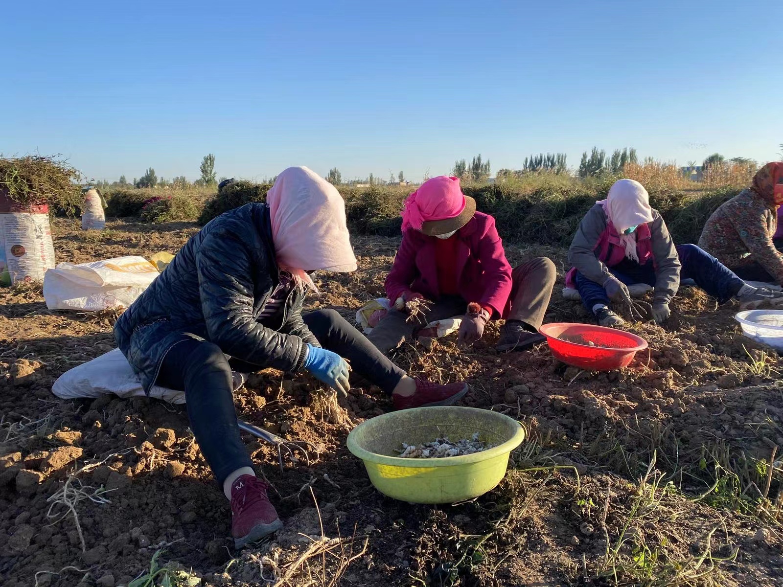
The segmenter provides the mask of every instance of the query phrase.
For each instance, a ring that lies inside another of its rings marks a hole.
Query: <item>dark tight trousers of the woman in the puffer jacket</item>
[[[323,348],[347,358],[355,373],[386,393],[391,394],[405,375],[334,310],[317,310],[303,318]],[[251,373],[258,366],[229,361],[217,344],[187,337],[166,353],[156,381],[185,391],[190,428],[220,484],[240,467],[253,466],[236,425],[232,369]]]

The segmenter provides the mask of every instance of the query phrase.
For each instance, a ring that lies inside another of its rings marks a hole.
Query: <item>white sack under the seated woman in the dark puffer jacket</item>
[[[52,393],[64,399],[99,398],[106,394],[132,398],[144,395],[144,389],[128,359],[115,348],[60,375],[52,385]],[[153,385],[150,398],[184,404],[185,392]]]

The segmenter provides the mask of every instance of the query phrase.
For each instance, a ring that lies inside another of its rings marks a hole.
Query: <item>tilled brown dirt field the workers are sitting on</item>
[[[108,227],[56,220],[57,260],[175,253],[197,231]],[[359,271],[321,276],[312,307],[348,316],[382,294],[396,240],[354,242]],[[512,262],[548,254],[561,269],[563,253],[507,247]],[[546,322],[584,321],[559,290]],[[312,380],[253,376],[235,394],[240,417],[322,450],[281,472],[247,436],[286,525],[237,553],[181,406],[52,396],[61,373],[114,348],[116,313],[49,312],[40,287],[2,290],[0,584],[128,585],[158,553],[155,585],[783,585],[781,362],[738,334],[735,310],[683,290],[665,328],[630,327],[651,349],[615,373],[567,368],[545,345],[499,355],[496,326],[464,354],[448,339],[402,349],[413,375],[465,378],[464,405],[529,432],[500,486],[455,506],[384,498],[346,427],[312,406]],[[355,423],[391,409],[355,386]]]

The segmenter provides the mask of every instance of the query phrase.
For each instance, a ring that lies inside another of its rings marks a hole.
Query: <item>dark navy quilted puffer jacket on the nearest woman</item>
[[[259,370],[298,371],[306,343],[318,346],[301,319],[301,290],[288,297],[280,324],[256,322],[279,282],[269,207],[245,204],[190,237],[117,320],[114,339],[147,393],[168,350],[187,337],[209,340]]]

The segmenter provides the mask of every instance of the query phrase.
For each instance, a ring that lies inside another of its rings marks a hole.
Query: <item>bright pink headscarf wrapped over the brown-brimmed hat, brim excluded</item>
[[[421,230],[424,222],[446,220],[462,214],[465,196],[460,189],[460,178],[439,175],[428,179],[408,196],[402,208],[402,230],[409,227]]]

